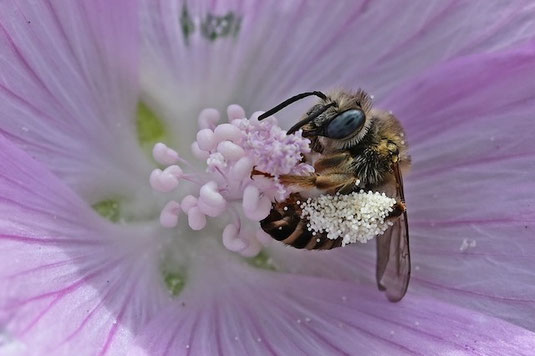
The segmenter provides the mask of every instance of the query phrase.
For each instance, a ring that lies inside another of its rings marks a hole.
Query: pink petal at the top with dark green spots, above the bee
[[[142,5],[142,85],[184,140],[207,105],[223,110],[239,103],[252,113],[298,92],[340,86],[379,96],[438,62],[535,35],[530,1],[144,0]],[[241,19],[236,36],[202,35],[209,15],[227,14]],[[194,26],[191,32],[183,30],[185,19]],[[289,124],[308,106],[310,101],[295,104],[280,117]]]

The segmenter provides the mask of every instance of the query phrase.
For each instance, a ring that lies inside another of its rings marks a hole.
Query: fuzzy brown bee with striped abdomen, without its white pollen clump
[[[342,245],[341,238],[332,240],[326,233],[309,231],[307,221],[301,218],[300,201],[307,196],[349,194],[361,189],[395,198],[397,204],[389,216],[393,225],[376,238],[376,281],[379,290],[397,302],[407,291],[411,268],[402,178],[402,170],[410,166],[410,156],[403,128],[391,112],[374,108],[372,98],[363,90],[298,94],[268,110],[259,120],[312,95],[319,97],[318,103],[288,134],[301,129],[303,137],[310,139],[312,153],[304,161],[313,164],[315,172],[280,176],[280,182],[295,193],[273,203],[260,226],[274,239],[296,248],[332,249]],[[266,175],[258,171],[253,174]]]

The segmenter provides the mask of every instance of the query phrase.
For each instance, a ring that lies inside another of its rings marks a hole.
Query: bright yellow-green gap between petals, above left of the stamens
[[[154,144],[167,141],[165,125],[145,103],[137,105],[137,138],[141,147],[149,152]]]

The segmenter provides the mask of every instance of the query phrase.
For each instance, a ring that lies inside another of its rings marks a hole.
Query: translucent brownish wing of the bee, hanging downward
[[[396,179],[396,197],[405,202],[403,178],[398,163],[393,164]],[[409,251],[409,224],[405,211],[377,240],[376,279],[379,290],[384,290],[388,300],[398,302],[403,298],[411,275]]]

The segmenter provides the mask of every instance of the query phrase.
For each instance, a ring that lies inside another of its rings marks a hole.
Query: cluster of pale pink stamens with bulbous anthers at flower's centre
[[[279,175],[313,172],[312,166],[301,162],[303,154],[310,152],[310,142],[301,132],[287,135],[274,117],[258,121],[260,113],[255,113],[246,119],[238,105],[229,106],[227,115],[229,122],[222,124],[218,124],[220,114],[215,109],[205,109],[199,115],[200,130],[191,150],[206,162],[208,175],[185,173],[178,163],[187,162],[158,143],[153,156],[167,167],[155,169],[150,184],[165,193],[175,191],[181,181],[200,186],[198,195],[186,195],[180,203],[171,200],[165,205],[160,214],[163,226],[177,226],[181,212],[194,230],[203,229],[207,217],[227,216],[229,222],[222,234],[225,247],[254,256],[261,249],[260,243],[271,238],[258,225],[256,233],[243,226],[242,218],[258,222],[269,214],[273,201],[286,199],[290,191],[279,183]],[[253,168],[267,175],[252,175]]]

